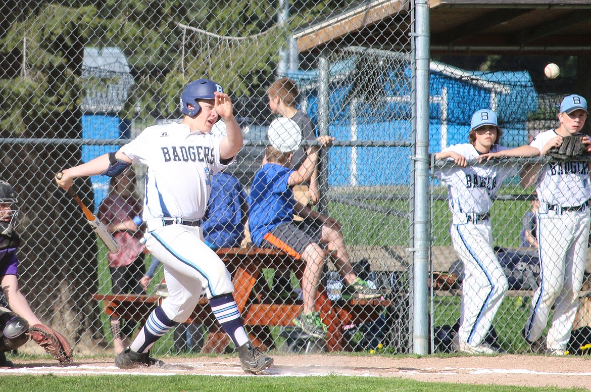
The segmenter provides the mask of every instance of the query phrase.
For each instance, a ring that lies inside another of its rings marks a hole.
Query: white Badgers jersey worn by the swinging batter
[[[212,176],[233,159],[220,163],[219,134],[191,132],[184,124],[146,128],[121,147],[133,163],[148,165],[144,221],[154,218],[203,218]]]

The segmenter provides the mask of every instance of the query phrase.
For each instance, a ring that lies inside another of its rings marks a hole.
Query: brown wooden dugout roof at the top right
[[[410,50],[411,0],[372,0],[294,33],[300,53]],[[591,54],[589,0],[430,0],[431,54]],[[398,37],[398,40],[392,40]]]

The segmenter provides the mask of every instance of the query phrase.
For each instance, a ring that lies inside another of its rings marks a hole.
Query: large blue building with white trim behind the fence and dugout
[[[363,48],[365,51],[365,48]],[[357,50],[359,51],[359,50]],[[329,133],[336,140],[412,140],[411,70],[408,54],[353,53],[330,64]],[[369,57],[369,58],[368,58]],[[376,59],[379,59],[376,60]],[[499,116],[503,145],[528,142],[526,121],[537,110],[537,92],[527,72],[471,72],[430,63],[430,152],[467,142],[470,118],[491,108]],[[301,90],[300,109],[318,122],[318,70],[287,76]],[[329,152],[331,186],[407,185],[408,147],[334,147]]]

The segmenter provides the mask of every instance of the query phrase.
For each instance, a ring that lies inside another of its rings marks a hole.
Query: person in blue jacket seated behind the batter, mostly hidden
[[[205,244],[213,250],[240,247],[244,239],[246,218],[248,202],[244,188],[232,174],[225,171],[217,173],[212,177],[212,192],[207,202],[207,212],[203,217]],[[160,261],[153,258],[148,272],[140,281],[144,289],[150,284],[158,265]],[[174,329],[174,335],[174,345],[178,351],[200,350],[199,345],[195,343],[203,342],[203,332],[199,325],[181,323]]]

